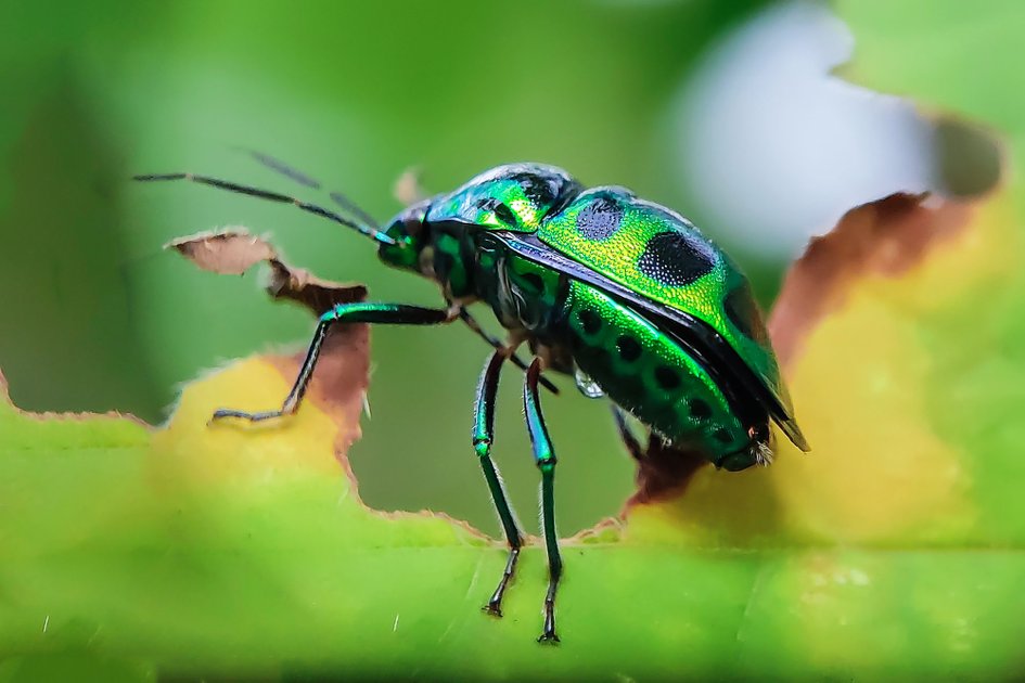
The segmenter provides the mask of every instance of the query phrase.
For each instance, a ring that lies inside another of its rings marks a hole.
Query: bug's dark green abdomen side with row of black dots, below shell
[[[579,369],[642,423],[709,460],[748,446],[741,423],[708,372],[643,317],[572,282],[559,336]]]

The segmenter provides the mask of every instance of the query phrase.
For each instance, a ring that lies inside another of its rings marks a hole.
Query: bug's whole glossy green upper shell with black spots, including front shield
[[[679,214],[623,188],[585,191],[553,166],[510,164],[434,198],[424,221],[492,231],[520,256],[675,328],[807,450],[747,279]]]

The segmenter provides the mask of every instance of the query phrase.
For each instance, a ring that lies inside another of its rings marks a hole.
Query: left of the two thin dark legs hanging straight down
[[[488,482],[491,501],[498,511],[502,529],[505,531],[505,541],[509,543],[505,571],[502,572],[498,588],[495,589],[488,604],[484,606],[485,611],[496,617],[502,616],[502,597],[505,595],[505,589],[516,571],[516,560],[520,559],[520,547],[523,545],[523,534],[516,526],[516,518],[513,516],[509,501],[505,499],[502,479],[495,467],[495,463],[491,462],[490,455],[491,443],[495,439],[495,395],[498,391],[498,378],[505,358],[505,351],[499,349],[491,353],[488,359],[484,372],[481,374],[481,382],[477,385],[477,402],[473,414],[473,450],[476,451],[481,461],[481,469]]]

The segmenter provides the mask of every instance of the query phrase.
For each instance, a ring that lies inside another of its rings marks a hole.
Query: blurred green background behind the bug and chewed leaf
[[[796,39],[766,29],[744,42],[752,27],[795,12],[825,28]],[[924,152],[894,178],[898,165],[870,144],[891,149],[881,125],[836,124],[855,107],[823,109],[787,91],[809,74],[846,87],[828,72],[849,46],[813,3],[100,0],[5,2],[3,16],[0,369],[28,410],[117,410],[155,423],[198,373],[305,346],[307,313],[271,304],[254,273],[217,276],[162,252],[179,235],[242,224],[270,233],[292,265],[368,283],[371,298],[439,301],[430,283],[386,270],[372,245],[330,222],[187,183],[133,184],[133,173],[190,170],[328,201],[238,152],[254,149],[384,220],[400,208],[393,185],[410,167],[439,192],[500,163],[552,163],[689,215],[735,249],[763,302],[807,235],[858,198],[817,191],[816,180],[851,188],[867,178],[866,201],[931,173],[930,129],[907,108],[895,115]],[[817,52],[823,41],[832,47]],[[770,57],[794,46],[811,52],[770,74]],[[731,87],[741,63],[766,74],[742,64],[738,82],[751,85]],[[772,108],[780,103],[797,113]],[[759,118],[766,111],[777,118]],[[764,125],[741,130],[745,120]],[[846,146],[831,157],[821,140]],[[795,159],[803,185],[786,166]],[[781,224],[796,228],[777,235]],[[461,326],[373,332],[373,417],[350,453],[369,504],[445,511],[498,533],[469,439],[486,355]],[[517,375],[508,372],[500,394],[496,454],[534,531]],[[560,384],[544,410],[569,533],[619,508],[632,466],[605,404]]]

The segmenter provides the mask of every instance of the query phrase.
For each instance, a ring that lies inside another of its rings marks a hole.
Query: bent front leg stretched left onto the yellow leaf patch
[[[379,325],[440,325],[449,323],[456,319],[453,311],[437,308],[422,308],[420,306],[407,306],[405,304],[339,304],[330,311],[320,317],[317,331],[313,333],[313,340],[310,342],[309,349],[306,351],[306,360],[303,361],[303,368],[299,375],[292,385],[292,390],[285,397],[280,410],[270,410],[259,413],[247,413],[241,410],[221,408],[214,411],[210,422],[222,420],[225,417],[239,417],[249,422],[260,422],[272,420],[283,415],[292,415],[299,408],[303,395],[309,386],[310,377],[313,375],[313,368],[317,365],[317,359],[320,356],[320,347],[328,336],[328,330],[335,323],[375,323]]]

